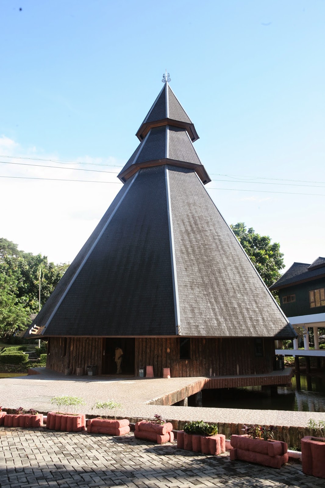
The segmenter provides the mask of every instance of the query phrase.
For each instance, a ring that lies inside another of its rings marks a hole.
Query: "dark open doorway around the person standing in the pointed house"
[[[122,375],[134,375],[135,339],[126,337],[104,337],[102,340],[102,374],[116,374],[115,348],[123,351]]]

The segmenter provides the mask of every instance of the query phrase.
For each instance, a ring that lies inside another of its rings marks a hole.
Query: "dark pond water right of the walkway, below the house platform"
[[[291,382],[291,387],[278,386],[277,393],[272,395],[262,391],[261,386],[202,390],[202,404],[218,408],[325,412],[324,373],[300,375],[300,388],[299,378],[298,388],[296,377]]]

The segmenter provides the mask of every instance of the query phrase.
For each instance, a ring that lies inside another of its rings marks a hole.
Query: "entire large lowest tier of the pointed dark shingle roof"
[[[124,185],[33,325],[45,337],[295,335],[195,172],[166,165]]]

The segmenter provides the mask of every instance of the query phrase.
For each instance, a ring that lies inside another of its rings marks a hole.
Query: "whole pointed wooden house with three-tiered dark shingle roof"
[[[204,188],[194,124],[168,82],[142,122],[124,183],[26,337],[47,367],[155,376],[264,374],[296,336]]]

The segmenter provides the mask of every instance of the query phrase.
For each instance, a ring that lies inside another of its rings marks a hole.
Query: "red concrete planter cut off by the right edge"
[[[325,442],[322,437],[306,436],[301,440],[303,472],[325,478]]]

